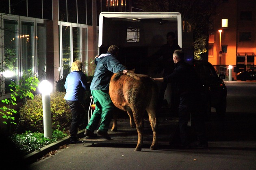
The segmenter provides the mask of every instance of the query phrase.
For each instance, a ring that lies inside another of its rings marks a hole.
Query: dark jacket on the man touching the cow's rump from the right
[[[163,79],[164,82],[172,83],[173,92],[180,97],[200,94],[197,73],[193,66],[187,64],[184,60],[176,63],[174,71]]]

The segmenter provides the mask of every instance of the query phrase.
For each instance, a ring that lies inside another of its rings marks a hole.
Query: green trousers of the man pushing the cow
[[[96,130],[101,119],[99,130],[107,132],[115,106],[106,90],[91,90],[91,96],[95,102],[95,110],[86,129]]]

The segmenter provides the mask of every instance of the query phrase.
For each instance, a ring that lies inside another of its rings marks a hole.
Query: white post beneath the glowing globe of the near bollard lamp
[[[44,137],[52,139],[52,118],[50,94],[42,94],[43,100],[43,133]]]

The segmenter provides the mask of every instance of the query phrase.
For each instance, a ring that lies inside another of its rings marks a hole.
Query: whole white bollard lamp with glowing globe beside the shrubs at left
[[[39,91],[42,94],[43,102],[43,133],[44,137],[52,138],[52,117],[51,117],[51,103],[50,103],[50,93],[52,92],[52,84],[43,80],[39,84]]]

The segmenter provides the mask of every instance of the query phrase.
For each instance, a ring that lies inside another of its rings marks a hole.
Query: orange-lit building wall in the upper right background
[[[213,65],[236,65],[236,55],[244,55],[245,53],[256,54],[256,1],[255,0],[228,0],[221,1],[217,9],[218,15],[214,19],[214,53],[213,57],[208,58],[208,61]],[[241,21],[241,11],[252,11],[251,21]],[[228,19],[228,28],[221,28],[221,19]],[[221,33],[221,45],[227,45],[227,53],[223,53],[219,58],[219,32]],[[239,35],[241,32],[252,32],[251,41],[240,41]],[[256,64],[256,60],[254,60]]]

